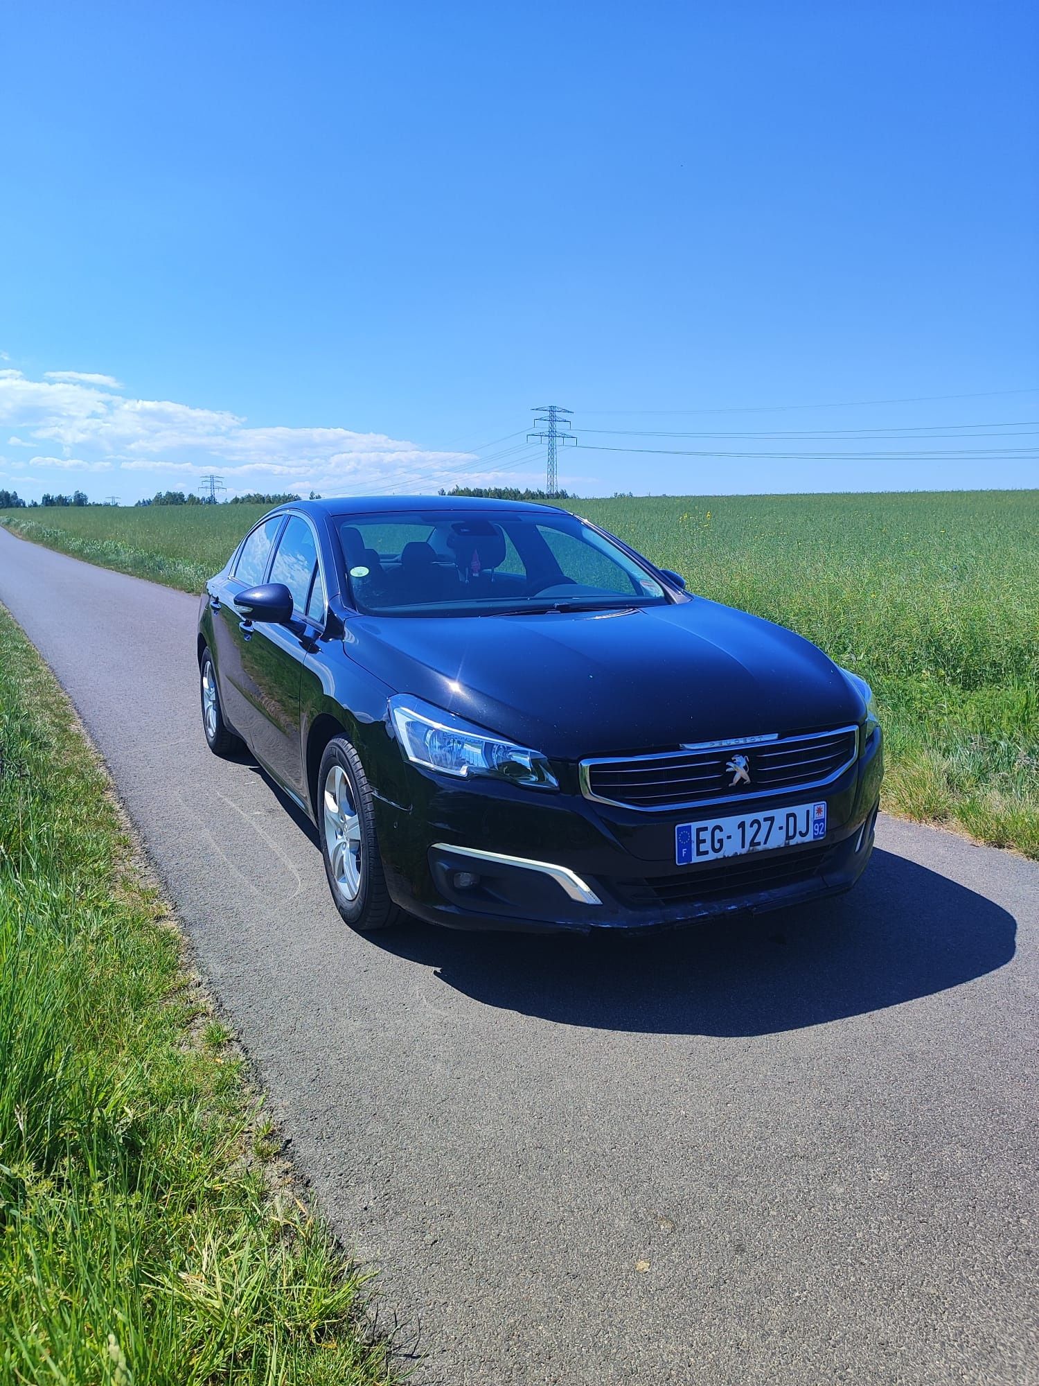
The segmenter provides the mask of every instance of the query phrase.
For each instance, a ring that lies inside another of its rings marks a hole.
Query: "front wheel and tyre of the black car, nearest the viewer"
[[[345,736],[334,736],[324,748],[314,807],[335,908],[359,933],[389,929],[402,912],[387,890],[371,786],[360,757]]]

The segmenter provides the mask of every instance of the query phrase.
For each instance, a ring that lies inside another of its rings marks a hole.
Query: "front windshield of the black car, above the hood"
[[[650,568],[567,511],[337,516],[359,611],[493,615],[659,606]]]

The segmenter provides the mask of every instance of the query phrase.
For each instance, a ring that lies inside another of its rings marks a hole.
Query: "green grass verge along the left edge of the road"
[[[108,780],[0,608],[0,1382],[375,1386]]]

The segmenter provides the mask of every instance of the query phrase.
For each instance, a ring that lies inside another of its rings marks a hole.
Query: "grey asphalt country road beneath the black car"
[[[1039,1382],[1039,868],[882,821],[856,890],[652,942],[349,933],[199,725],[195,600],[0,529],[418,1382]]]

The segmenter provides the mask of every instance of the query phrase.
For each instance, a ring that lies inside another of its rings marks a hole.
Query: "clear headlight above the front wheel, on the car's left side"
[[[493,736],[421,699],[396,694],[389,717],[400,748],[413,765],[459,779],[489,776],[531,789],[558,789],[540,751]]]

